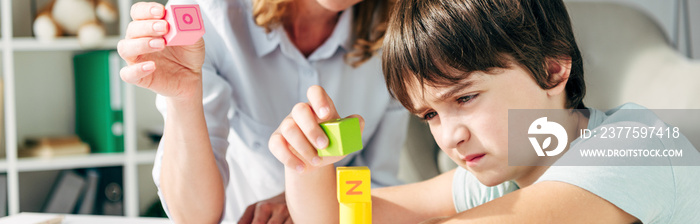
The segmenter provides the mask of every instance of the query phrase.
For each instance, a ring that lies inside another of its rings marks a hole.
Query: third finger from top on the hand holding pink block
[[[163,38],[136,38],[122,39],[117,44],[119,56],[124,58],[126,62],[133,63],[134,59],[140,55],[161,51],[165,48],[165,39]]]

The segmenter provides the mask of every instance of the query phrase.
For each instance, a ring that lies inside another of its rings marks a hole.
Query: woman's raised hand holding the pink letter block
[[[165,46],[168,33],[165,7],[138,2],[131,7],[126,37],[119,41],[119,55],[128,66],[122,68],[125,82],[167,97],[200,97],[204,40],[189,46]]]

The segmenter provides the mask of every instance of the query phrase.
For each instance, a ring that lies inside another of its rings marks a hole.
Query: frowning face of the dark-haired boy
[[[519,65],[473,72],[449,86],[420,84],[409,92],[440,148],[487,186],[514,180],[534,167],[508,166],[508,109],[557,108]],[[423,92],[424,91],[424,92]]]

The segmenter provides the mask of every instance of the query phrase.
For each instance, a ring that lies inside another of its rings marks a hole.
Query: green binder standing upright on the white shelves
[[[122,81],[124,61],[116,51],[102,50],[73,57],[75,132],[93,153],[124,151]]]

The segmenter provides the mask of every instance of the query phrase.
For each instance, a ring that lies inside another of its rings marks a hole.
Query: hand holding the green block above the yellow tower
[[[328,136],[319,123],[340,118],[333,100],[320,86],[311,86],[306,93],[309,103],[298,103],[279,128],[270,136],[270,151],[285,166],[298,172],[326,166],[345,156],[319,157],[317,149],[328,146]],[[360,129],[365,121],[359,115]]]

